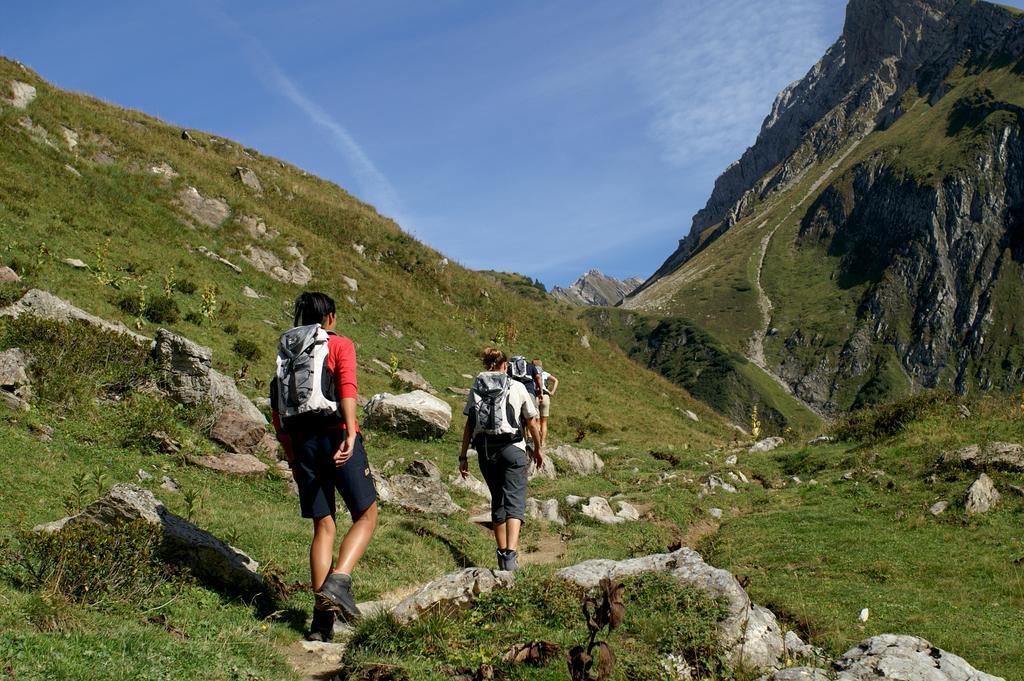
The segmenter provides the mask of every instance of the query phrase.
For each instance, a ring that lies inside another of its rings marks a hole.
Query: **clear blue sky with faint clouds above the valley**
[[[52,1],[0,49],[330,178],[459,262],[646,276],[843,0]]]

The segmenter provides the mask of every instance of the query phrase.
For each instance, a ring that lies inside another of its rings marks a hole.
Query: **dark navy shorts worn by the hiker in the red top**
[[[353,522],[377,501],[377,488],[370,474],[362,435],[355,436],[351,458],[343,466],[335,465],[334,453],[344,436],[345,431],[333,428],[292,435],[295,451],[292,475],[299,487],[303,518],[333,517],[336,511],[335,490],[341,494]]]

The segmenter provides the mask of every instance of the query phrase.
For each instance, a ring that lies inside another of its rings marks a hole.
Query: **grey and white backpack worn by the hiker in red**
[[[278,343],[270,403],[285,430],[341,422],[337,390],[327,365],[329,335],[318,324],[286,331]]]

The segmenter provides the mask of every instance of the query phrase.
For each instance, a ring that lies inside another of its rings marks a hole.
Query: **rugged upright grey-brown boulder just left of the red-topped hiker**
[[[161,387],[182,405],[209,401],[220,412],[231,410],[266,424],[263,413],[246,397],[234,381],[213,369],[213,350],[166,329],[157,331],[154,358],[161,371]]]

